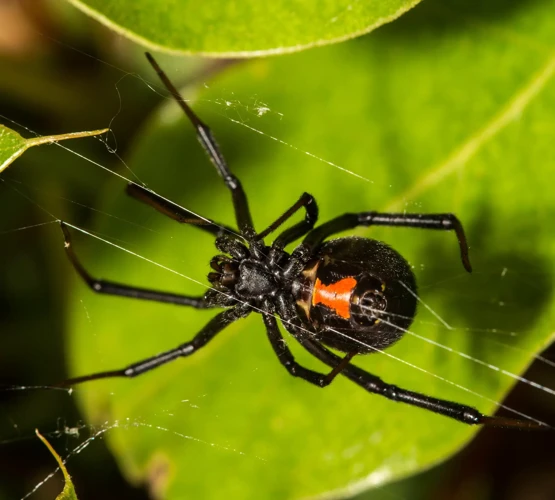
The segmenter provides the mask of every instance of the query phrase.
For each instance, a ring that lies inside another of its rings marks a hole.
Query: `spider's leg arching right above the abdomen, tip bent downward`
[[[468,272],[472,272],[472,266],[468,258],[468,244],[466,242],[464,229],[459,219],[453,214],[381,214],[377,212],[361,212],[341,215],[308,233],[303,242],[293,252],[291,269],[287,269],[286,274],[291,275],[291,273],[298,273],[300,271],[298,266],[305,264],[306,259],[312,255],[314,249],[327,237],[347,229],[353,229],[357,226],[416,227],[439,231],[455,231],[459,242],[463,266]],[[299,265],[295,263],[297,259],[300,262]]]

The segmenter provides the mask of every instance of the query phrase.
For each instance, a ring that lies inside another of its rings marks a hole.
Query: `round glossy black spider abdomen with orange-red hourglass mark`
[[[303,272],[300,315],[317,340],[369,353],[399,340],[416,313],[416,281],[391,247],[367,238],[323,243]]]

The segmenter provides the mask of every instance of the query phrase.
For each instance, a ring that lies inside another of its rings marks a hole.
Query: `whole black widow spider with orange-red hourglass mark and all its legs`
[[[216,237],[222,252],[210,261],[211,288],[202,297],[131,287],[97,280],[89,275],[73,252],[68,227],[61,223],[65,248],[73,267],[97,293],[153,300],[198,309],[222,307],[189,342],[120,370],[68,379],[70,386],[111,377],[135,377],[204,347],[232,322],[252,311],[262,314],[268,339],[287,371],[318,387],[325,387],[341,373],[368,392],[418,406],[465,424],[534,428],[528,421],[482,415],[475,408],[436,399],[383,382],[351,364],[357,354],[386,348],[399,340],[416,313],[416,283],[407,261],[386,244],[366,238],[347,237],[325,241],[329,236],[357,226],[396,226],[441,231],[457,235],[462,263],[471,272],[468,246],[461,223],[453,214],[347,213],[314,228],[318,208],[303,193],[299,200],[261,233],[254,229],[247,197],[241,183],[227,166],[210,129],[183,100],[150,54],[150,64],[193,124],[198,140],[231,192],[239,231],[193,215],[134,182],[127,193],[180,223],[193,224]],[[304,220],[283,231],[271,246],[263,239],[299,209]],[[286,245],[304,236],[291,254]],[[327,374],[299,365],[278,328],[276,316],[299,343],[331,367]],[[346,353],[340,357],[328,347]]]

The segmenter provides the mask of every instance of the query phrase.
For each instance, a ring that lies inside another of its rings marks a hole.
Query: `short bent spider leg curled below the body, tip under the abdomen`
[[[268,339],[270,340],[270,344],[272,345],[279,362],[294,377],[302,378],[311,384],[317,385],[318,387],[326,387],[331,384],[336,375],[347,366],[349,361],[356,354],[347,354],[347,356],[343,359],[338,357],[332,371],[328,374],[310,370],[295,361],[293,353],[287,346],[285,339],[279,331],[275,316],[270,313],[263,313],[262,317],[264,319],[264,325],[266,326],[266,332],[268,333]]]

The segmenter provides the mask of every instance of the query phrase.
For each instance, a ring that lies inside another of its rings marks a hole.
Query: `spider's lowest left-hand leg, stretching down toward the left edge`
[[[120,370],[111,370],[106,372],[93,373],[91,375],[84,375],[82,377],[75,377],[67,379],[58,386],[67,387],[71,385],[80,384],[82,382],[89,382],[91,380],[98,380],[102,378],[116,378],[116,377],[137,377],[150,370],[154,370],[159,366],[170,363],[171,361],[190,356],[197,352],[201,347],[204,347],[210,342],[216,334],[221,332],[226,326],[234,321],[244,318],[250,312],[247,306],[239,306],[235,308],[226,309],[218,315],[214,316],[204,328],[198,332],[192,340],[185,342],[178,347],[170,349],[169,351],[162,352],[156,356],[143,359],[137,363],[133,363]]]

